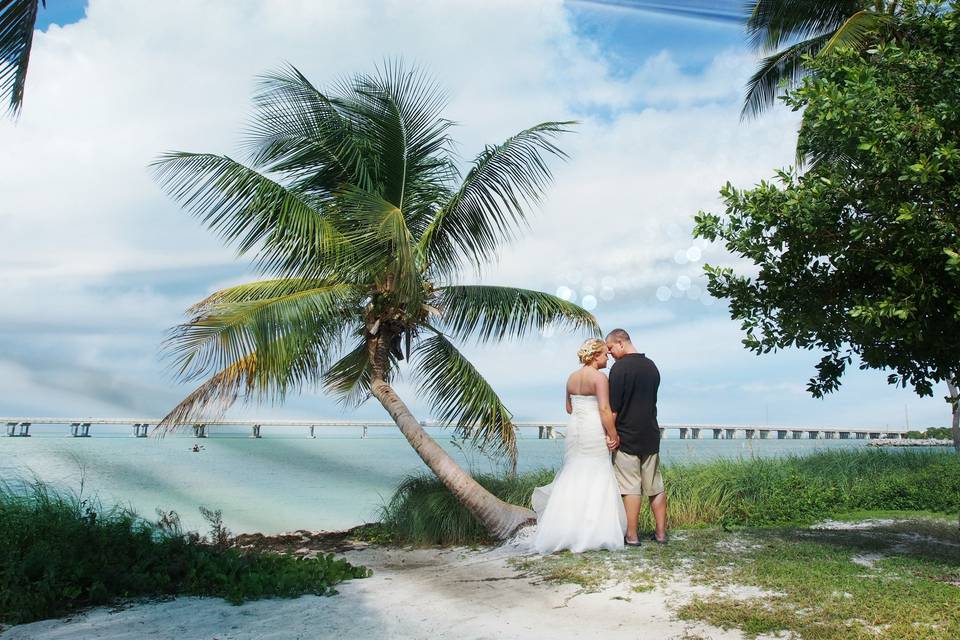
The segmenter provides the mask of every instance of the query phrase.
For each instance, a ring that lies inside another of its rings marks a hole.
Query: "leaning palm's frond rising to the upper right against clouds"
[[[545,156],[565,158],[553,140],[573,122],[544,122],[474,160],[460,189],[420,238],[432,268],[449,274],[461,261],[480,267],[526,222],[524,205],[539,200],[551,179]]]

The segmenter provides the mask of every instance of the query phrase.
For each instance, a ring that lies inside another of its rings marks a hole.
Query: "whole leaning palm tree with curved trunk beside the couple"
[[[457,276],[494,258],[524,225],[550,180],[546,160],[564,156],[554,140],[571,123],[538,124],[486,147],[464,177],[442,95],[399,64],[331,92],[289,67],[261,78],[254,105],[250,166],[181,152],[154,165],[175,200],[268,276],[214,293],[172,330],[175,371],[205,382],[162,428],[241,396],[277,401],[304,386],[350,404],[373,396],[450,491],[492,534],[508,536],[533,513],[465,473],[392,382],[407,368],[439,420],[515,461],[510,412],[455,342],[599,329],[560,298]]]

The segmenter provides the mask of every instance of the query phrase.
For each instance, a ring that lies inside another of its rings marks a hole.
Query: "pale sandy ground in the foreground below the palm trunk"
[[[312,638],[573,638],[733,640],[738,631],[670,614],[688,585],[634,593],[612,585],[578,594],[523,575],[516,552],[370,548],[346,553],[373,577],[338,586],[324,598],[258,600],[233,606],[219,598],[177,598],[9,628],[2,640],[308,640]],[[623,598],[623,599],[620,599]]]

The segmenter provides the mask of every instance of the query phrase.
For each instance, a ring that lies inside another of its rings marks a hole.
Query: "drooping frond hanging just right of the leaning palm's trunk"
[[[480,372],[440,332],[419,342],[414,364],[437,420],[516,460],[512,415]]]

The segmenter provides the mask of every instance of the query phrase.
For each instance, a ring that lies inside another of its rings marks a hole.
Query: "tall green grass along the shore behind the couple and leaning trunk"
[[[883,449],[664,465],[671,527],[809,524],[853,511],[960,510],[960,459],[952,452]],[[479,475],[514,504],[530,504],[552,470]],[[641,514],[641,524],[646,514]],[[492,542],[433,476],[408,477],[383,507],[395,538],[418,545]]]

